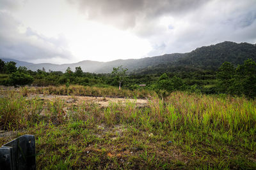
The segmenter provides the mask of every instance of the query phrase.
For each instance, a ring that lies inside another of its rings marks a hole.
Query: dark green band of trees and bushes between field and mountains
[[[127,69],[114,67],[111,74],[84,73],[81,67],[74,71],[67,68],[61,71],[46,72],[44,67],[37,71],[26,67],[16,67],[15,62],[3,62],[0,59],[0,73],[7,74],[1,85],[84,85],[84,86],[117,86],[125,89],[156,90],[161,95],[181,90],[202,92],[205,94],[230,94],[256,97],[256,63],[252,59],[235,67],[230,62],[223,62],[218,71],[194,70],[157,74],[126,74]],[[140,84],[146,84],[141,87]]]

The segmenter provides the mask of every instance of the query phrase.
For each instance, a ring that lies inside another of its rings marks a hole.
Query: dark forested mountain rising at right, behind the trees
[[[134,70],[134,74],[154,74],[166,73],[173,71],[196,71],[196,70],[213,70],[225,61],[231,62],[234,66],[243,64],[244,60],[253,59],[256,61],[256,45],[250,43],[234,43],[225,41],[211,46],[202,46],[189,53],[184,53],[172,63],[165,63]]]

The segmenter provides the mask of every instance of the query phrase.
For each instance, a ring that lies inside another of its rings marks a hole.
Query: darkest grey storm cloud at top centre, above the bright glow
[[[204,0],[68,0],[76,4],[87,18],[100,20],[121,29],[148,24],[163,15],[180,15],[202,6]],[[150,25],[150,24],[149,24]]]

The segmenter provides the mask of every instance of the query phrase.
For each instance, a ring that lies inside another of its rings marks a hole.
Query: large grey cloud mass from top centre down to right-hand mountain
[[[68,1],[89,20],[148,39],[154,47],[150,56],[221,41],[256,43],[255,0]]]

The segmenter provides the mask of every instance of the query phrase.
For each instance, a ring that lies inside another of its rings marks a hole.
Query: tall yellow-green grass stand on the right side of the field
[[[165,100],[153,97],[148,108],[135,104],[111,104],[106,109],[107,122],[164,124],[166,129],[214,129],[215,131],[250,131],[256,129],[256,103],[245,98],[227,98],[173,92]],[[157,126],[158,127],[158,126]]]

